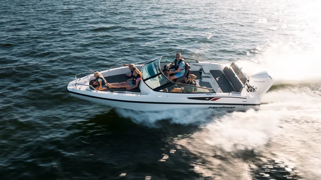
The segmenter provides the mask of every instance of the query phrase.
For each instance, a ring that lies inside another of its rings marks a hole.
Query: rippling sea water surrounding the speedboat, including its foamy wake
[[[317,3],[1,1],[1,179],[320,178],[321,88],[302,84],[321,77]],[[66,92],[85,70],[177,52],[291,82],[238,113],[133,112]]]

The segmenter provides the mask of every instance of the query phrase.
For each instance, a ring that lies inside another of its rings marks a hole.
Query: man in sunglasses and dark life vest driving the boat
[[[167,67],[173,66],[173,69],[168,70],[165,72],[165,76],[169,78],[169,80],[173,81],[173,79],[183,77],[185,74],[185,61],[181,57],[180,53],[176,53],[176,58],[173,62],[167,65]],[[169,77],[169,74],[174,74],[173,76]]]

